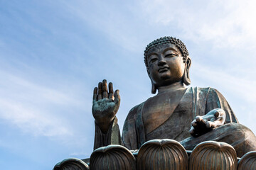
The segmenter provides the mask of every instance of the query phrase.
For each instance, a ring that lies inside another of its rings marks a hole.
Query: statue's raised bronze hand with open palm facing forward
[[[107,80],[100,82],[98,88],[95,87],[93,91],[92,115],[102,132],[106,133],[110,128],[119,106],[119,90],[113,92],[113,85],[110,82],[107,91]]]

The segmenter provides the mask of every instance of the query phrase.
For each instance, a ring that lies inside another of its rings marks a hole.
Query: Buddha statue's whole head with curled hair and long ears
[[[155,94],[160,86],[179,81],[186,85],[191,84],[188,75],[191,59],[181,40],[172,37],[154,40],[146,46],[144,62],[151,79],[152,94]]]

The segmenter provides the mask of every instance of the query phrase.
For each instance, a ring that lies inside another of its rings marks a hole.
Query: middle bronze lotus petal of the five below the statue
[[[188,154],[175,140],[150,140],[139,149],[137,170],[188,169]]]

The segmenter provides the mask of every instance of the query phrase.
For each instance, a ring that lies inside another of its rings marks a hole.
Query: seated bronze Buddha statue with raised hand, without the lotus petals
[[[213,88],[187,87],[191,84],[191,57],[176,38],[154,40],[144,51],[144,62],[151,80],[151,93],[157,94],[129,111],[122,137],[117,124],[119,91],[103,80],[95,87],[92,115],[95,118],[95,146],[123,145],[139,149],[154,139],[176,140],[191,150],[198,143],[227,142],[238,157],[256,150],[253,132],[238,123],[232,108]]]

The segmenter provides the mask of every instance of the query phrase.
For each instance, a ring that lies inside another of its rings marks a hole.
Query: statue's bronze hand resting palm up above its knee
[[[225,111],[221,108],[215,108],[212,111],[209,111],[206,115],[196,116],[196,119],[191,122],[191,130],[189,130],[189,132],[194,137],[197,137],[220,125],[224,125],[224,123]]]

